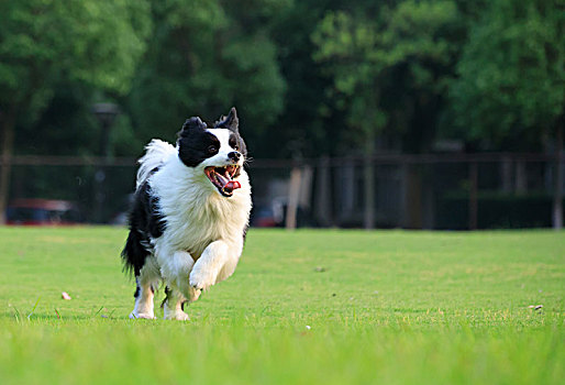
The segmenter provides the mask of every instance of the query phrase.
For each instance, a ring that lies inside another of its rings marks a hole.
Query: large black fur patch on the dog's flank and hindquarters
[[[135,193],[130,211],[130,234],[122,251],[125,272],[140,275],[149,255],[151,239],[163,235],[165,228],[166,221],[158,212],[158,198],[151,195],[151,187],[145,182]]]

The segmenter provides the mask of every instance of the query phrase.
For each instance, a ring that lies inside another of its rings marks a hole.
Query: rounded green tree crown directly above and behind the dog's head
[[[215,119],[231,106],[247,141],[264,131],[284,108],[285,80],[277,47],[255,18],[279,3],[153,1],[156,28],[128,102],[136,134],[174,139],[189,116]]]

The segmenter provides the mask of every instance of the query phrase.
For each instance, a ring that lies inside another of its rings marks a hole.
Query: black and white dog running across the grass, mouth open
[[[188,119],[176,147],[160,140],[146,146],[122,252],[137,283],[130,318],[155,318],[163,280],[165,319],[187,320],[185,301],[233,274],[252,207],[246,155],[235,108],[213,127]]]

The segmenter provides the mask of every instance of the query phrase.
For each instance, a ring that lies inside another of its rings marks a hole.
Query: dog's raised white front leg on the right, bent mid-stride
[[[230,248],[224,241],[210,243],[190,273],[190,286],[196,290],[206,290],[228,278],[237,265],[241,249],[241,245]]]

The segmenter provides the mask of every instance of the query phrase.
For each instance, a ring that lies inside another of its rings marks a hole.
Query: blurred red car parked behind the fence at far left
[[[56,226],[77,224],[81,216],[68,200],[15,199],[8,205],[7,224]]]

